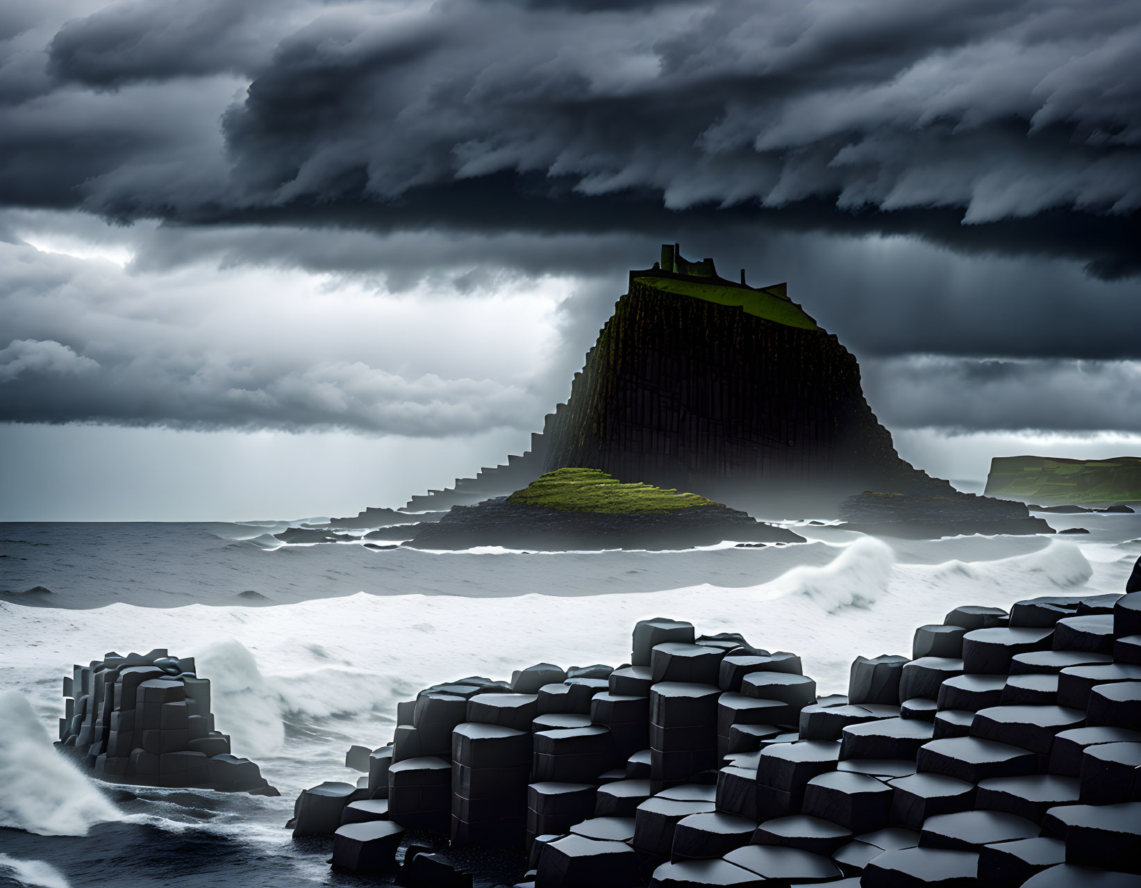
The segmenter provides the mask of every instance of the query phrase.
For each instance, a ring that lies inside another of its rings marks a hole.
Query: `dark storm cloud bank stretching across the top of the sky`
[[[278,9],[143,0],[60,26],[35,102],[188,75],[248,94],[112,113],[89,145],[62,107],[9,110],[0,189],[201,224],[901,232],[1141,271],[1134,0]],[[225,145],[155,135],[224,111]]]

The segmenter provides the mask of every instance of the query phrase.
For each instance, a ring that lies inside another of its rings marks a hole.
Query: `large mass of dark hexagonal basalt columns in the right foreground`
[[[795,654],[644,620],[616,669],[423,689],[291,825],[398,885],[496,845],[517,888],[1135,886],[1141,594],[956,607],[911,654],[822,697]]]

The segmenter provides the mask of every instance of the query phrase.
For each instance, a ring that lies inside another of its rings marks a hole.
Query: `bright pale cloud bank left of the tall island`
[[[225,317],[221,288],[242,286],[225,276],[201,291],[168,281],[152,300],[153,281],[110,263],[0,244],[0,421],[435,437],[542,417],[533,387],[423,372],[375,334],[362,349],[345,330]]]

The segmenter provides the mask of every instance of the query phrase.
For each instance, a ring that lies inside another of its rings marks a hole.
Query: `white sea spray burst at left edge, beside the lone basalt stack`
[[[86,835],[91,825],[119,816],[51,745],[23,694],[0,694],[0,826],[40,835]]]

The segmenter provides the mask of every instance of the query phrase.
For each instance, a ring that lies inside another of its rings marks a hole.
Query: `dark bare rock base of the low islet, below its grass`
[[[508,502],[455,506],[436,524],[423,524],[405,546],[415,549],[686,549],[736,542],[803,542],[784,527],[754,520],[725,506],[695,506],[664,514],[560,511]]]

